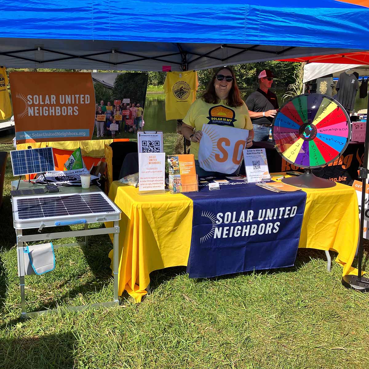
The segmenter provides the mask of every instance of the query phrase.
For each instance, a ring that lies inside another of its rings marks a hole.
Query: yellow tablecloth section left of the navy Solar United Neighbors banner
[[[182,194],[139,195],[138,188],[114,181],[109,197],[122,210],[119,222],[118,292],[141,301],[149,273],[187,265],[192,232],[192,200]],[[107,226],[111,226],[108,225]],[[109,257],[113,259],[113,251]]]

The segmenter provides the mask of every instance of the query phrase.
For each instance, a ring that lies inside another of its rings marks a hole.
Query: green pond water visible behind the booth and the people
[[[272,89],[277,95],[279,105],[282,105],[282,96],[286,89]],[[242,97],[246,97],[254,90],[242,90]],[[356,95],[355,111],[366,109],[368,106],[368,97],[366,99],[359,99],[359,93]],[[165,94],[163,93],[149,93],[146,95],[145,101],[145,130],[158,130],[163,133],[175,133],[177,127],[176,120],[165,120]],[[0,142],[12,142],[14,133],[9,131],[0,132]]]

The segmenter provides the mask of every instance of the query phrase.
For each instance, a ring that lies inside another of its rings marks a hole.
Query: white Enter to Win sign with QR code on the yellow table
[[[270,180],[265,149],[245,149],[244,163],[248,183]]]

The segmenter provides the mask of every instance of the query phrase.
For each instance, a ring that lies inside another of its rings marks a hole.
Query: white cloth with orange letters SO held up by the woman
[[[248,130],[204,124],[199,146],[200,167],[209,172],[234,173],[242,161]]]

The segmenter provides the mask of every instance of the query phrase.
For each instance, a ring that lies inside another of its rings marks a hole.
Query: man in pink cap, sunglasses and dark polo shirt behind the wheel
[[[252,126],[254,127],[254,141],[267,141],[269,127],[279,108],[277,96],[269,89],[273,83],[273,73],[264,69],[259,73],[259,88],[246,99]]]

